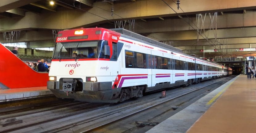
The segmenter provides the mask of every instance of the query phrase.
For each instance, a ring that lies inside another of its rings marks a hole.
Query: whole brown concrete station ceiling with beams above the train
[[[198,57],[256,56],[255,0],[180,0],[179,9],[176,0],[53,2],[1,0],[0,42],[53,47],[58,30],[124,27]]]

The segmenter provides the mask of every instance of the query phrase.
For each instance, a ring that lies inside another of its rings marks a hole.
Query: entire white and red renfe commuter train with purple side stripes
[[[72,29],[58,33],[47,88],[58,98],[115,103],[231,74],[125,29]]]

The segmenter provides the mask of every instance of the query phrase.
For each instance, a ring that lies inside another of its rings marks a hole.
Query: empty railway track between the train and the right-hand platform
[[[224,79],[225,78],[221,78],[214,82],[207,81],[184,88],[168,90],[165,98],[159,98],[160,93],[155,93],[138,98],[136,101],[130,100],[120,104],[97,105],[88,103],[85,105],[76,105],[72,108],[68,107],[66,110],[64,108],[56,110],[50,109],[53,113],[52,115],[49,114],[50,110],[46,111],[48,114],[34,112],[27,116],[16,117],[17,119],[29,120],[26,120],[25,122],[23,121],[23,123],[16,124],[15,126],[1,127],[0,132],[58,132],[63,130],[88,132],[115,121],[122,120],[128,116],[132,116],[138,112],[143,112],[149,108],[161,105],[188,93],[192,93],[206,86],[216,84]],[[58,114],[58,112],[61,113]],[[42,115],[42,117],[38,118],[39,115]],[[31,122],[31,120],[35,121]]]

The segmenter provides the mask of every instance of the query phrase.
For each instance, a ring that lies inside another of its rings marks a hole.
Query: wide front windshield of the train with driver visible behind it
[[[109,59],[109,56],[104,54],[104,45],[108,45],[108,41],[98,40],[57,43],[53,59]]]

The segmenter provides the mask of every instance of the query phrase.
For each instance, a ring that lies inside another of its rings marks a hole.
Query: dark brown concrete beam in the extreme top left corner
[[[25,6],[27,4],[36,2],[39,0],[1,0],[0,2],[0,13],[8,11],[10,9]]]

